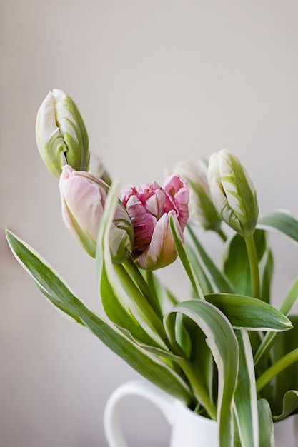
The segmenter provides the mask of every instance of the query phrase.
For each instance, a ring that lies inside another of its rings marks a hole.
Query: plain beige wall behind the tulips
[[[50,306],[4,238],[4,227],[15,231],[100,308],[94,263],[64,228],[58,182],[36,149],[36,111],[50,89],[67,91],[91,149],[124,184],[162,181],[165,166],[226,147],[251,174],[261,215],[286,208],[297,217],[298,3],[2,0],[0,7],[0,445],[106,447],[106,399],[139,376]],[[217,241],[203,241],[217,256]],[[297,276],[298,256],[282,238],[272,243],[278,301]],[[177,268],[162,275],[185,293]],[[127,405],[131,446],[167,441],[152,406]]]

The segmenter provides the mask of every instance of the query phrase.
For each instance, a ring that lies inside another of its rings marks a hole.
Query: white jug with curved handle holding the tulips
[[[149,382],[124,383],[111,394],[104,413],[109,447],[129,447],[121,426],[119,403],[125,396],[140,396],[154,403],[172,426],[169,447],[218,447],[217,423],[199,416],[180,401]],[[274,423],[275,447],[298,446],[298,415]]]

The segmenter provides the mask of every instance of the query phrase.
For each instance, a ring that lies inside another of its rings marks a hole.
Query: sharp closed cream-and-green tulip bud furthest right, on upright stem
[[[259,208],[257,191],[239,159],[226,149],[209,159],[209,187],[222,219],[244,237],[252,236]]]

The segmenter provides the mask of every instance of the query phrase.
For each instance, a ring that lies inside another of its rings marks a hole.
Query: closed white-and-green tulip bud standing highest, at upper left
[[[76,171],[89,169],[89,139],[74,101],[64,91],[50,91],[36,116],[36,142],[49,171],[59,177],[69,164]]]

